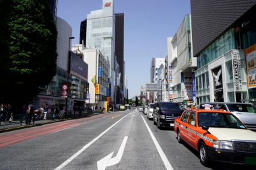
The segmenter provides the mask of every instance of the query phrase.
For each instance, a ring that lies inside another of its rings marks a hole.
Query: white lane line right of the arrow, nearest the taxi
[[[148,132],[150,132],[150,136],[152,138],[152,140],[154,141],[154,144],[156,145],[156,149],[158,150],[158,153],[160,155],[160,157],[162,158],[162,161],[164,162],[164,165],[166,167],[167,170],[173,170],[172,165],[170,165],[170,162],[168,161],[167,157],[164,154],[164,151],[162,151],[162,148],[160,146],[160,144],[158,143],[158,140],[156,140],[154,134],[152,133],[152,131],[150,130],[150,127],[148,126],[146,120],[143,118],[143,116],[141,115],[141,118],[143,119],[144,123],[146,124],[146,127],[148,128]]]

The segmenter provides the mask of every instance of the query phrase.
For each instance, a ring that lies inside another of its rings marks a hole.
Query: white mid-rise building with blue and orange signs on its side
[[[98,49],[84,48],[77,44],[72,48],[73,52],[82,54],[84,62],[88,63],[88,96],[86,105],[107,108],[107,97],[109,96],[108,67],[109,62]]]

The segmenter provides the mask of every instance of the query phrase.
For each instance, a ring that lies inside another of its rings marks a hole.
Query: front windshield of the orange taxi
[[[245,126],[232,114],[199,112],[197,118],[198,126],[245,129]]]

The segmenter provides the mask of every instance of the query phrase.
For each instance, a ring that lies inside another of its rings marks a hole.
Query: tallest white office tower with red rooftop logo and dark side
[[[123,103],[124,14],[114,14],[113,0],[103,0],[102,9],[91,11],[80,25],[80,44],[97,48],[109,60],[109,96]]]

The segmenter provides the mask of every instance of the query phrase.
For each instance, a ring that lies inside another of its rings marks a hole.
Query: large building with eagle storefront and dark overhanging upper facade
[[[198,104],[241,102],[256,97],[254,59],[250,50],[253,48],[250,46],[256,44],[255,11],[255,0],[191,0]]]

